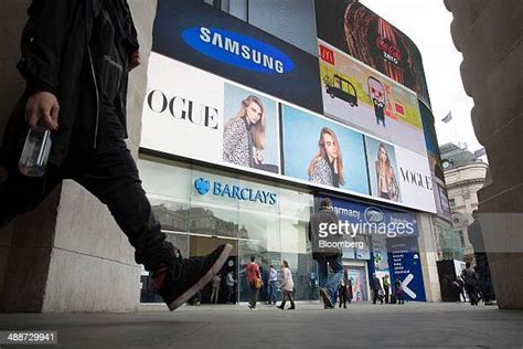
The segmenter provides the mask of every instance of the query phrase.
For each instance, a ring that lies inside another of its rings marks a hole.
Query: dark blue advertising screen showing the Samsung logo
[[[322,113],[318,57],[203,1],[159,0],[152,51]]]

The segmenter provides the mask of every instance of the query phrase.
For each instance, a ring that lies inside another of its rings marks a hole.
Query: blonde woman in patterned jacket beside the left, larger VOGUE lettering
[[[223,130],[223,159],[253,168],[262,165],[265,127],[265,106],[262,99],[250,95],[242,101],[238,113]]]

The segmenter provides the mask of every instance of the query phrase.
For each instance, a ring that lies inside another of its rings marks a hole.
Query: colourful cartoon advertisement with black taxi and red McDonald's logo
[[[426,155],[416,94],[319,41],[323,110],[391,144]]]

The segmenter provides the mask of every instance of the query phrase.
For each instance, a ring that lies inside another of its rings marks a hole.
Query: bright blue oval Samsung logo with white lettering
[[[215,28],[189,28],[183,41],[214,60],[241,68],[271,74],[285,74],[295,67],[281,51],[256,39]]]

